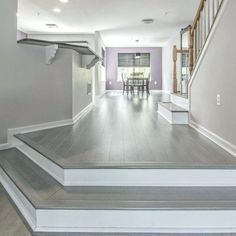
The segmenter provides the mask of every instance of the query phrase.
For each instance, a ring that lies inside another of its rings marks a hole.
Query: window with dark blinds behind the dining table
[[[148,78],[151,74],[150,53],[119,53],[118,54],[118,81],[122,81],[122,74],[131,77],[137,74]]]

